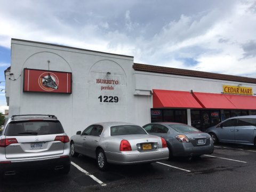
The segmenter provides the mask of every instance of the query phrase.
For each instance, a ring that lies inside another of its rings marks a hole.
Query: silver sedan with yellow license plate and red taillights
[[[97,159],[100,170],[108,163],[151,163],[169,158],[166,141],[142,127],[123,122],[92,124],[70,138],[70,154]]]

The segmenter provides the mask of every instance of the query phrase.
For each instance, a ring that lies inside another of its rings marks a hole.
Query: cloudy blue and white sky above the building
[[[0,89],[11,38],[256,78],[255,23],[256,0],[1,0]]]

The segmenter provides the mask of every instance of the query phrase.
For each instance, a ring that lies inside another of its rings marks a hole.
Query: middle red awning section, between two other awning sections
[[[236,109],[224,94],[193,92],[195,99],[207,109]]]

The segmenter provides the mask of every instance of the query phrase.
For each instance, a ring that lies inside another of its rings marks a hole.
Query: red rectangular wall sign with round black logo
[[[72,73],[24,69],[23,92],[71,93]]]

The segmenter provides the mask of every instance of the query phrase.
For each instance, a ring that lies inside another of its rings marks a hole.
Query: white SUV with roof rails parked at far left
[[[68,173],[69,145],[54,115],[14,115],[0,134],[0,178],[31,169]]]

